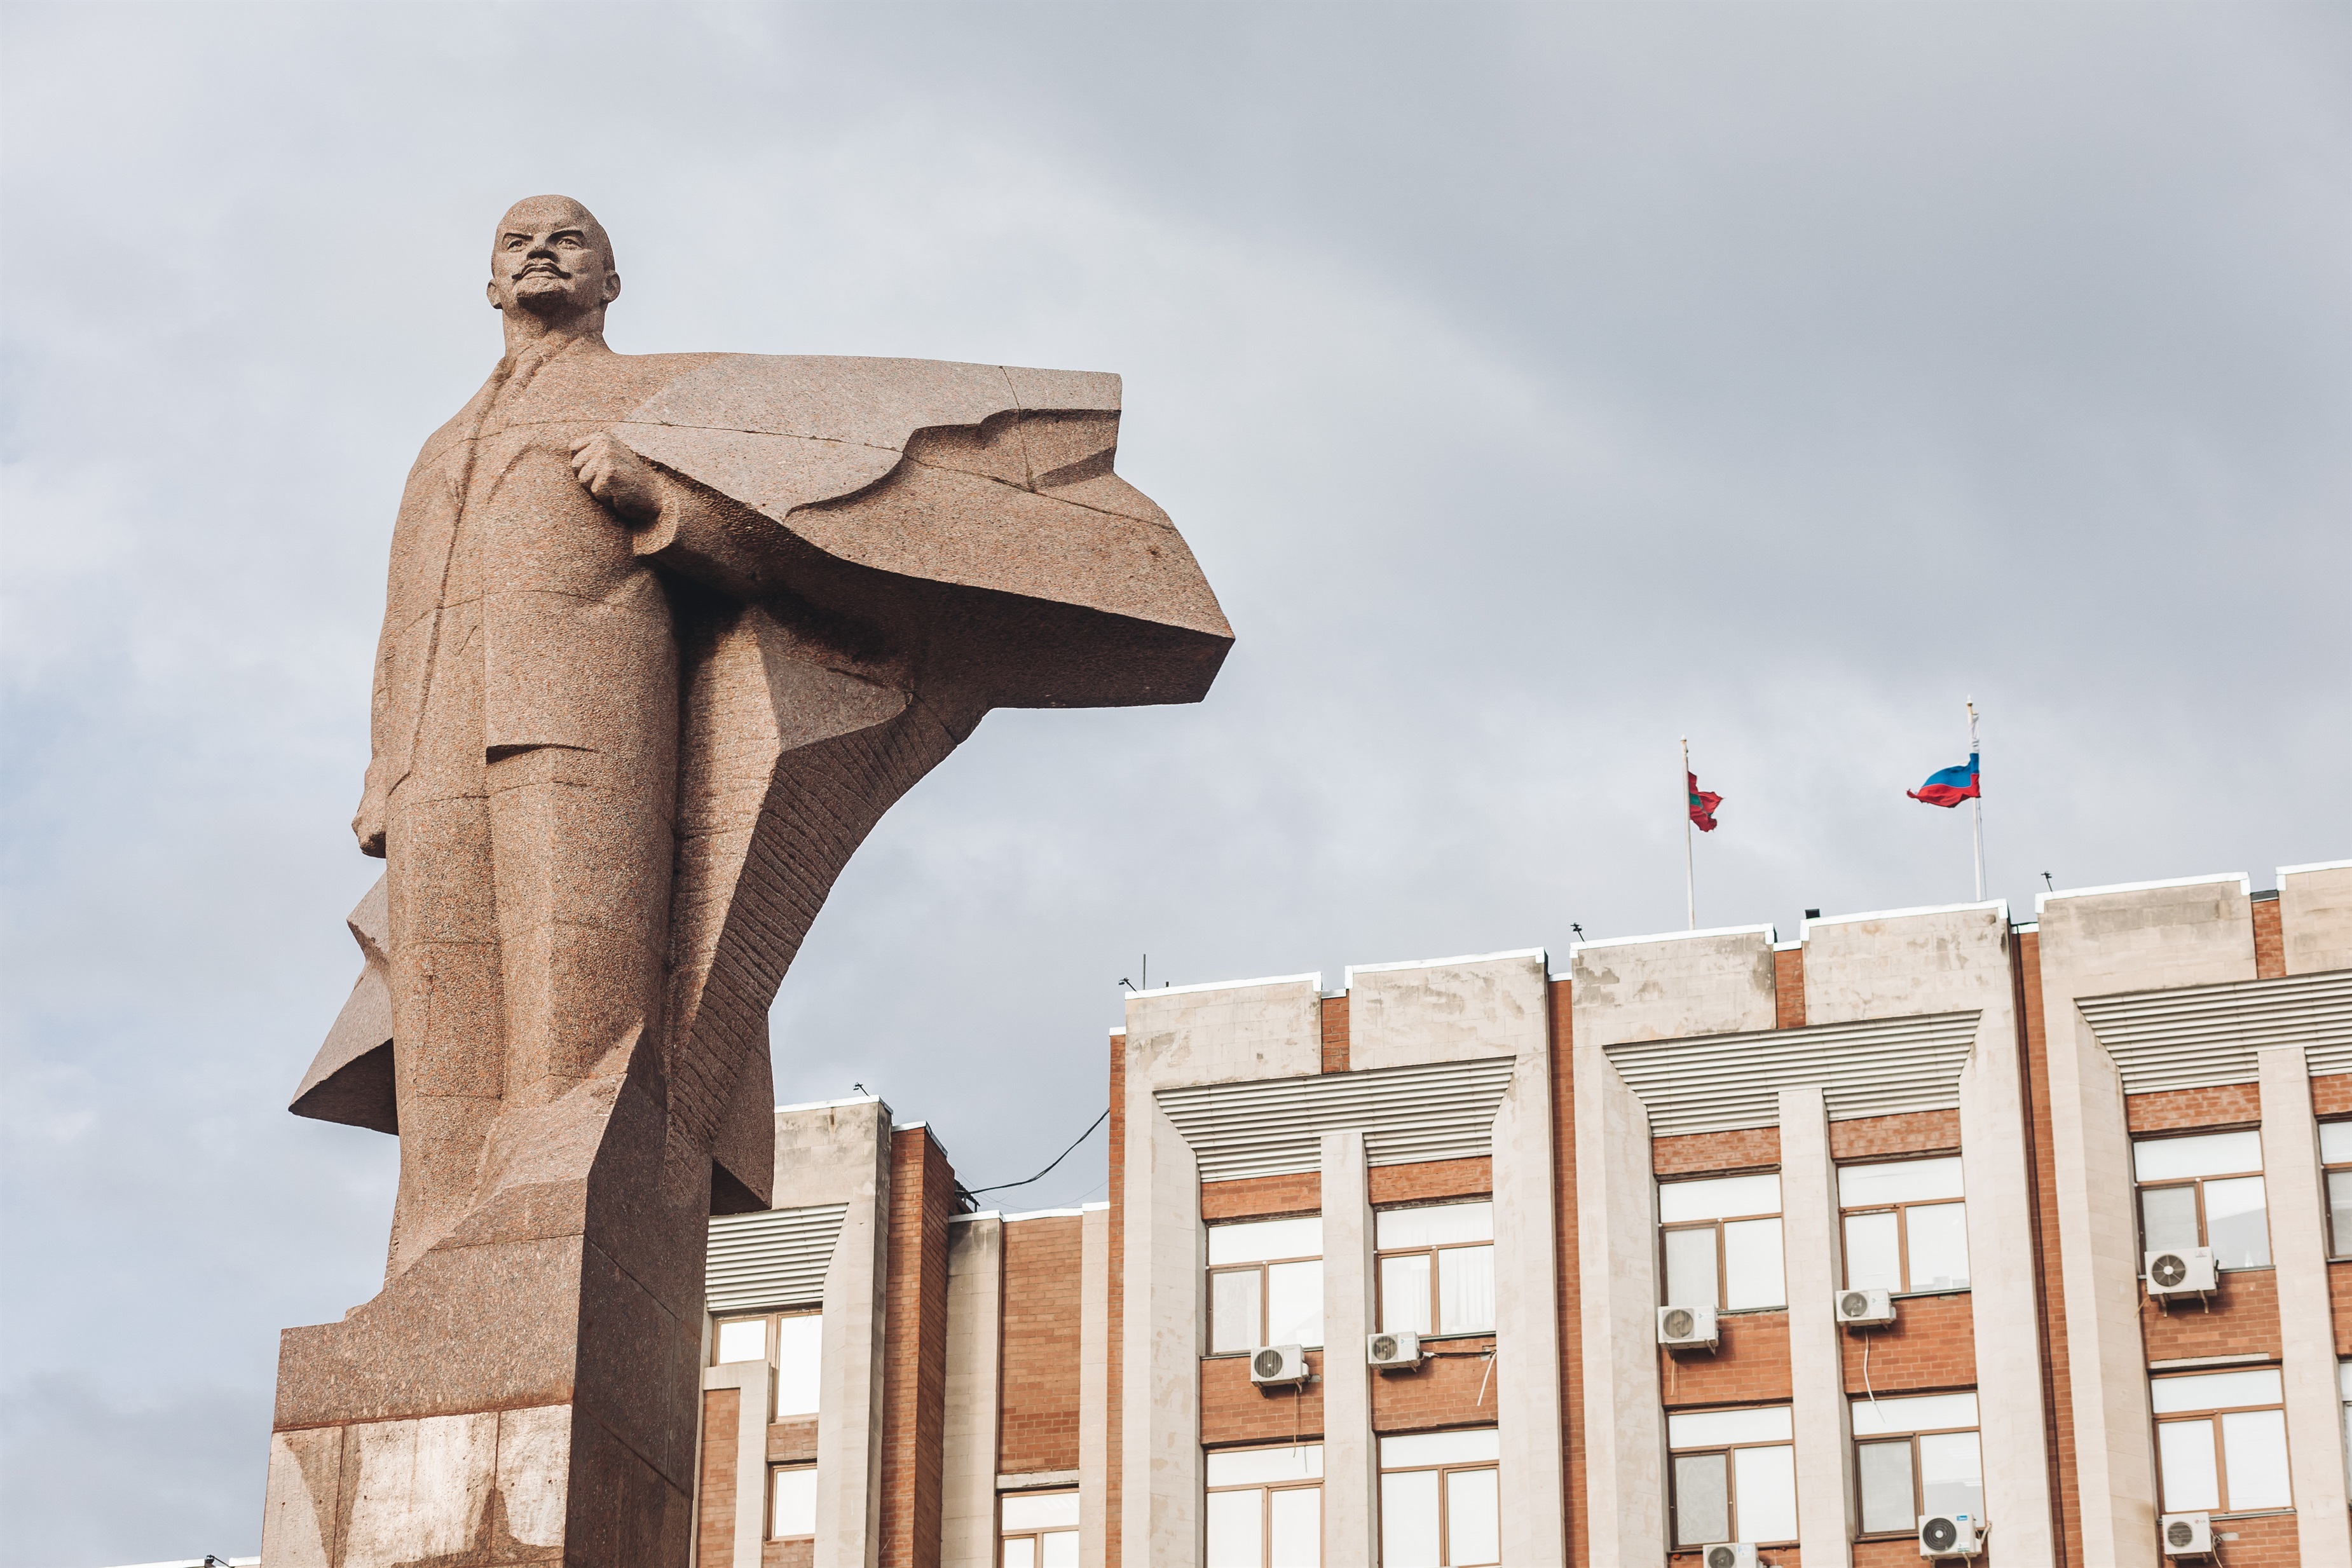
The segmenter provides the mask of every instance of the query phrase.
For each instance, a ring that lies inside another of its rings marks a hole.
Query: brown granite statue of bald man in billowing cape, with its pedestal
[[[270,1568],[684,1568],[703,1239],[774,1180],[767,1009],[990,708],[1192,703],[1230,630],[1115,376],[619,355],[567,197],[393,529],[386,875],[294,1110],[397,1133],[383,1291],[280,1347]]]

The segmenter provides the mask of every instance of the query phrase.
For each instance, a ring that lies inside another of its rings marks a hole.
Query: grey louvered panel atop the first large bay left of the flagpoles
[[[1364,1161],[1374,1166],[1472,1159],[1491,1152],[1515,1060],[1200,1084],[1155,1098],[1192,1145],[1204,1182],[1317,1171],[1322,1135],[1350,1128],[1362,1128]]]

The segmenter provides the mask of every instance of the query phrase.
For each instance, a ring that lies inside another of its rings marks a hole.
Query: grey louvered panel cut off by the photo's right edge
[[[2251,1084],[2263,1046],[2303,1046],[2312,1074],[2352,1072],[2352,969],[2082,997],[2074,1006],[2133,1095]]]

